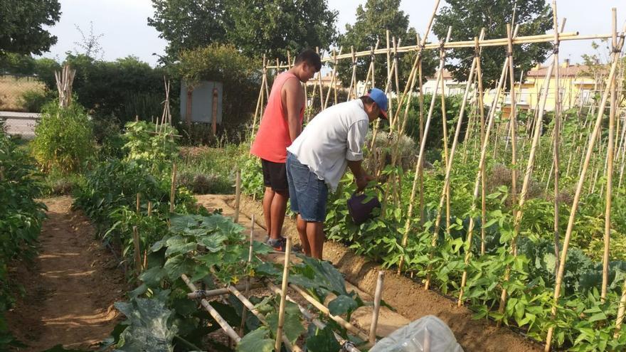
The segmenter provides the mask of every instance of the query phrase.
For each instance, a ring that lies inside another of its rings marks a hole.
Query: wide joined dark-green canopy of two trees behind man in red
[[[229,43],[245,55],[287,58],[287,50],[328,48],[336,38],[336,11],[326,0],[152,0],[148,18],[169,42],[176,60],[181,50]]]

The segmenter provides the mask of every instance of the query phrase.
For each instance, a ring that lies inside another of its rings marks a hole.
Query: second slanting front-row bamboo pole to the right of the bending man
[[[430,239],[430,254],[429,257],[430,259],[433,258],[433,252],[435,250],[435,246],[437,245],[437,235],[439,233],[439,226],[441,223],[441,210],[443,208],[443,202],[445,197],[445,193],[449,193],[449,189],[450,189],[450,174],[452,173],[452,161],[454,160],[455,157],[455,151],[457,150],[457,144],[459,142],[459,134],[461,132],[461,126],[463,124],[463,117],[465,115],[465,106],[467,105],[467,97],[470,94],[470,87],[472,85],[472,80],[474,79],[474,72],[476,69],[476,64],[477,61],[479,60],[479,55],[474,55],[474,59],[472,60],[472,66],[470,68],[470,77],[467,78],[467,82],[465,85],[465,92],[463,93],[463,100],[461,102],[461,110],[459,112],[459,119],[457,121],[457,128],[455,131],[455,138],[454,141],[452,142],[452,149],[450,150],[450,161],[446,164],[445,167],[445,178],[444,178],[444,186],[441,192],[441,198],[439,201],[439,206],[437,207],[437,218],[435,218],[435,229],[433,230],[433,236]],[[433,97],[433,101],[435,100],[435,97]],[[430,119],[430,113],[429,113],[429,117],[428,119]],[[428,119],[426,121],[426,130],[425,132],[428,133]],[[421,151],[420,151],[421,154]],[[447,230],[450,230],[450,226],[447,227]],[[430,270],[431,270],[432,265],[430,265],[430,262],[426,268],[426,282],[424,284],[424,289],[428,289],[428,287],[430,287]]]

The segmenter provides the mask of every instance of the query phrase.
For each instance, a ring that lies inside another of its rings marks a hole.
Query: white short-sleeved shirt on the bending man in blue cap
[[[363,160],[368,125],[360,99],[342,102],[317,114],[287,151],[335,191],[348,161]]]

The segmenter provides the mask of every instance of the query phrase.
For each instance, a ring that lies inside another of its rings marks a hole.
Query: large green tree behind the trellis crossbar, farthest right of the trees
[[[552,10],[545,0],[447,0],[435,17],[433,32],[446,36],[452,26],[452,41],[473,40],[481,28],[485,38],[506,38],[506,23],[519,24],[518,36],[542,34],[553,27]],[[516,9],[514,11],[514,6]],[[551,48],[549,43],[522,44],[514,47],[516,72],[528,71],[536,63],[543,63]],[[494,86],[502,71],[506,58],[506,46],[485,47],[481,54],[482,78],[487,86]],[[448,54],[451,59],[446,65],[455,80],[463,82],[470,75],[474,48],[454,49]],[[517,78],[516,78],[517,79]]]

